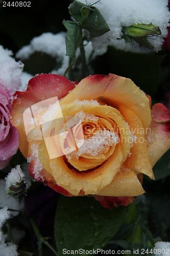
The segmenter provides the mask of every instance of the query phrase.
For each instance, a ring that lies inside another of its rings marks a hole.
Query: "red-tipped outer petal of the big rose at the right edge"
[[[170,147],[170,113],[166,107],[157,103],[152,107],[151,132],[147,134],[147,147],[152,166]]]

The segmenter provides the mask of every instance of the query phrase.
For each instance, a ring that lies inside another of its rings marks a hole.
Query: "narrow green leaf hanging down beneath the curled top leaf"
[[[70,20],[65,20],[63,25],[67,29],[65,37],[66,55],[71,58],[70,65],[74,65],[76,63],[76,49],[82,42],[81,28]]]

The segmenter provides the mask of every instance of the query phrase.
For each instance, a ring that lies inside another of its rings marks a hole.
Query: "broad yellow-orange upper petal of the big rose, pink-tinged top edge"
[[[99,97],[101,97],[100,100],[114,108],[119,105],[128,106],[140,118],[143,127],[149,127],[151,110],[148,97],[131,79],[114,74],[84,78],[69,95],[61,100],[61,104],[68,104],[76,99],[91,100]]]

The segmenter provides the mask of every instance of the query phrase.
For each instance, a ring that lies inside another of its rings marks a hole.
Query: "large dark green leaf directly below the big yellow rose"
[[[61,196],[54,226],[59,255],[63,255],[63,248],[102,248],[122,226],[124,216],[124,207],[108,210],[93,198]]]

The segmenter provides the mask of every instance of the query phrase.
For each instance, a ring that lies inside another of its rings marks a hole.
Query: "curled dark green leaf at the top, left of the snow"
[[[69,13],[76,19],[81,28],[89,31],[90,38],[103,35],[110,30],[106,20],[95,7],[74,1],[69,7]]]

